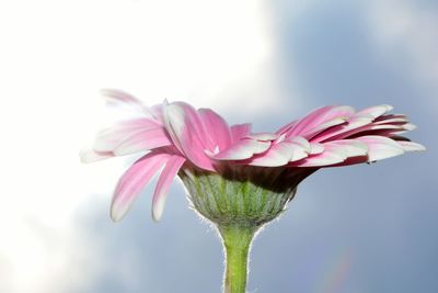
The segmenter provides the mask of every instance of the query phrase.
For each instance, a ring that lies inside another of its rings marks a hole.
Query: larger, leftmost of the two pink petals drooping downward
[[[113,221],[120,221],[128,212],[132,202],[140,194],[143,187],[151,180],[158,170],[169,160],[170,155],[149,153],[137,160],[118,180],[111,206]]]

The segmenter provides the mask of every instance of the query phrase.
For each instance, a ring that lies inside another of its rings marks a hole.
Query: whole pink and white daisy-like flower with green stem
[[[145,106],[130,94],[104,91],[108,103],[135,117],[101,131],[84,162],[141,154],[119,179],[111,205],[122,219],[145,185],[160,173],[152,217],[162,216],[175,177],[192,207],[217,227],[226,252],[223,291],[244,293],[247,256],[254,235],[277,218],[298,184],[320,168],[371,162],[424,150],[401,134],[415,126],[390,105],[356,112],[328,105],[272,133],[252,133],[251,124],[228,125],[210,109],[164,101]]]

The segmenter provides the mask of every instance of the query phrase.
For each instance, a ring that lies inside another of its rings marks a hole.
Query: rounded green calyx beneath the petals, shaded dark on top
[[[194,210],[217,225],[261,226],[293,198],[302,173],[286,168],[223,167],[218,173],[186,167],[178,173]]]

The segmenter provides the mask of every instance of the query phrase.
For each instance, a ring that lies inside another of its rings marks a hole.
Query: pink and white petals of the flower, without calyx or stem
[[[84,162],[147,153],[122,176],[114,192],[111,215],[119,221],[151,178],[160,172],[153,193],[152,216],[163,212],[170,184],[184,166],[217,172],[220,166],[268,168],[325,168],[370,162],[424,150],[400,134],[412,131],[403,114],[387,114],[390,105],[359,112],[328,105],[291,122],[274,133],[252,133],[251,124],[229,126],[209,109],[184,102],[147,108],[136,98],[105,91],[107,101],[129,108],[137,117],[101,131]]]

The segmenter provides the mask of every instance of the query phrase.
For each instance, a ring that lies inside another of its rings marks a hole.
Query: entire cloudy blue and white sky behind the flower
[[[153,182],[110,219],[136,156],[78,155],[118,117],[105,88],[255,131],[325,104],[407,113],[427,151],[306,179],[255,239],[247,291],[438,291],[436,1],[3,1],[0,35],[1,293],[220,292],[220,241],[177,180],[160,223]]]

